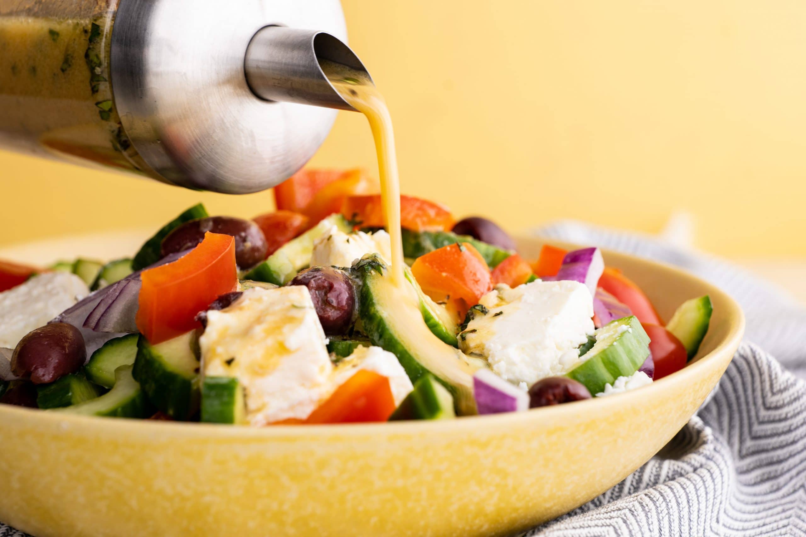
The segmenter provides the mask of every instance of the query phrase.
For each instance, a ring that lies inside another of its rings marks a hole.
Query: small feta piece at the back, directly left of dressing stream
[[[334,225],[314,242],[310,266],[352,266],[366,254],[379,254],[388,264],[392,258],[389,234],[383,229],[375,233],[344,233]]]

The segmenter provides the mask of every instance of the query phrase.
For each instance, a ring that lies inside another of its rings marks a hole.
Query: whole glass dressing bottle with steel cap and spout
[[[264,190],[352,109],[318,66],[364,70],[344,39],[338,0],[0,0],[0,147]]]

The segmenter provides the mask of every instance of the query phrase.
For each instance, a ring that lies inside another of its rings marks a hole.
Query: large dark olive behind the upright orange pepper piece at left
[[[163,239],[162,257],[197,246],[208,231],[235,237],[235,262],[239,269],[255,266],[266,258],[268,244],[260,227],[253,221],[235,217],[208,217],[185,222]]]

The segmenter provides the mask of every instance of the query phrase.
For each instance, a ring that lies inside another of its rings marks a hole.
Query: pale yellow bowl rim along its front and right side
[[[569,242],[558,241],[539,236],[518,235],[517,242],[550,242],[567,246],[575,246]],[[633,254],[625,254],[616,250],[602,248],[605,257],[614,256],[616,258],[629,258],[650,266],[653,271],[666,271],[683,279],[694,279],[702,287],[708,289],[708,294],[718,296],[719,302],[726,304],[729,311],[726,312],[726,319],[730,322],[729,330],[725,338],[711,350],[711,352],[697,357],[682,370],[674,374],[661,378],[648,386],[642,386],[638,390],[630,390],[621,394],[615,394],[605,398],[592,398],[584,401],[577,401],[574,404],[555,405],[551,407],[533,408],[523,412],[506,412],[493,415],[473,415],[464,416],[461,419],[451,420],[410,420],[381,423],[333,423],[317,425],[272,425],[263,428],[253,428],[249,426],[232,426],[222,423],[198,423],[162,421],[155,419],[109,419],[100,416],[71,415],[60,412],[41,411],[39,409],[15,407],[12,405],[0,405],[0,423],[12,420],[18,422],[23,427],[44,427],[53,430],[66,430],[69,428],[82,428],[93,435],[118,436],[120,434],[137,436],[183,436],[185,438],[206,438],[210,440],[275,440],[275,439],[306,439],[315,440],[318,437],[344,437],[349,439],[352,436],[372,436],[372,435],[406,435],[438,432],[439,435],[450,436],[451,432],[470,432],[484,426],[513,426],[516,423],[569,423],[575,415],[582,414],[591,405],[598,405],[600,411],[607,411],[606,406],[616,410],[618,407],[629,407],[631,403],[638,403],[644,397],[646,391],[662,390],[664,386],[671,386],[674,383],[695,381],[700,372],[713,366],[712,362],[717,361],[722,353],[727,349],[736,349],[742,341],[745,329],[745,315],[742,308],[730,295],[722,291],[719,287],[708,283],[699,277],[683,271],[677,266],[665,262],[658,262],[649,258],[642,258]],[[732,357],[731,357],[732,359]],[[22,423],[20,423],[22,422]]]

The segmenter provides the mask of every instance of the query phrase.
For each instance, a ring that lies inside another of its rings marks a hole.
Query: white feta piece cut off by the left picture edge
[[[14,349],[34,328],[89,295],[84,280],[69,272],[46,272],[0,293],[0,347]]]

